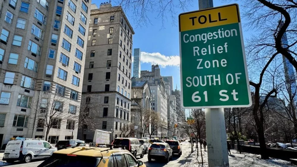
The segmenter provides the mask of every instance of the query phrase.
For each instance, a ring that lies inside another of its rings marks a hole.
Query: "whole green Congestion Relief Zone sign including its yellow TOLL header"
[[[184,108],[252,105],[238,4],[179,15]]]

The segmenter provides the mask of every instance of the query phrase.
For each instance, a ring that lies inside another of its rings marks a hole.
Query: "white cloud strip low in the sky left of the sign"
[[[161,53],[141,52],[141,63],[158,64],[161,67],[179,66],[179,56],[165,56]]]

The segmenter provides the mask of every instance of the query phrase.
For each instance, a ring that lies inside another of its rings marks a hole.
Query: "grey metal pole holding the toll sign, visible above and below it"
[[[199,10],[213,6],[212,0],[198,0]],[[229,166],[224,108],[205,109],[208,166]]]

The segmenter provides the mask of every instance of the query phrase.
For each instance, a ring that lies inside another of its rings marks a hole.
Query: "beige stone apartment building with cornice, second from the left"
[[[92,4],[83,77],[83,103],[98,105],[89,116],[96,129],[111,131],[113,139],[125,136],[130,123],[133,28],[121,6]],[[79,130],[81,131],[81,130]],[[84,138],[94,130],[85,126]]]

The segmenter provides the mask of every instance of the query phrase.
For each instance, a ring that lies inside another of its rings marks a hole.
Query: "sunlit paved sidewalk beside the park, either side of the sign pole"
[[[191,145],[189,145],[190,147]],[[208,160],[207,160],[207,151],[203,151],[202,148],[202,156],[203,156],[203,165],[201,161],[201,154],[200,154],[200,146],[198,145],[199,155],[197,158],[197,149],[194,145],[194,152],[187,152],[187,161],[185,167],[207,167]],[[189,148],[191,150],[191,147]],[[250,154],[246,152],[242,152],[239,154],[236,150],[231,150],[231,154],[229,155],[229,165],[230,167],[271,167],[271,166],[282,166],[282,167],[290,167],[295,166],[291,164],[289,161],[280,160],[271,158],[268,160],[260,159],[260,155]]]

